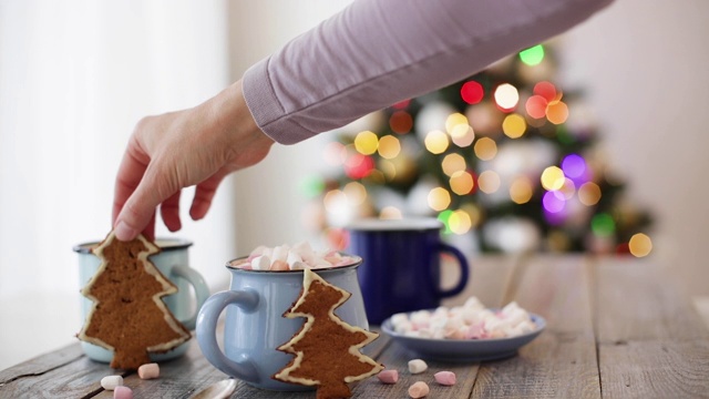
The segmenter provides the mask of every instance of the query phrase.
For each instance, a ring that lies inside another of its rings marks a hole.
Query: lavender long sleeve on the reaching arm
[[[243,76],[281,144],[469,76],[584,21],[612,0],[354,0]]]

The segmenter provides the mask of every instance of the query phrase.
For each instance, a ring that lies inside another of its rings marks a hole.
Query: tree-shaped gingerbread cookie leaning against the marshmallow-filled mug
[[[274,378],[318,386],[317,399],[348,398],[352,395],[348,382],[383,369],[360,352],[379,335],[351,326],[335,315],[335,309],[349,299],[350,293],[330,285],[310,269],[304,272],[300,297],[284,317],[306,317],[307,321],[290,341],[278,347],[296,357]]]

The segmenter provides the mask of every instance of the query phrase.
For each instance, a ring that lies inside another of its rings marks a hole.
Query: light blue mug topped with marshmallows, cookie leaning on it
[[[351,265],[314,272],[351,294],[348,300],[335,309],[335,314],[349,325],[369,329],[357,279],[357,267],[362,259],[353,258]],[[292,359],[292,355],[276,348],[288,342],[306,320],[302,317],[284,317],[300,296],[304,272],[239,268],[238,265],[246,260],[238,258],[227,263],[226,268],[232,274],[229,290],[214,294],[199,310],[196,334],[202,352],[226,375],[254,387],[279,391],[315,389],[271,378]],[[217,320],[225,309],[222,351],[217,345]]]

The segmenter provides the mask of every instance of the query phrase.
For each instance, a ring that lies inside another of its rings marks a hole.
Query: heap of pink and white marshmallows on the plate
[[[510,338],[536,328],[530,314],[516,303],[493,311],[476,297],[470,297],[463,306],[397,314],[391,324],[404,336],[434,339]]]

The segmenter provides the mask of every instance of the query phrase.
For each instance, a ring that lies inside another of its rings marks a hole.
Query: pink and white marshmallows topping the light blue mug
[[[235,266],[253,270],[286,272],[347,266],[353,262],[354,258],[336,250],[316,252],[310,244],[301,242],[292,246],[286,244],[273,248],[258,246],[245,263]]]

